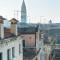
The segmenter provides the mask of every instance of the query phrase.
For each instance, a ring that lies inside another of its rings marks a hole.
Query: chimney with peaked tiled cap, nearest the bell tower
[[[15,18],[12,18],[11,20],[10,20],[10,22],[11,22],[11,33],[12,33],[12,35],[18,35],[18,32],[17,32],[17,20],[15,19]]]

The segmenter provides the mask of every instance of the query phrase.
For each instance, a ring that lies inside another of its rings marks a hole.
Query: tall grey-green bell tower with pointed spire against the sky
[[[26,23],[27,22],[27,13],[26,13],[26,5],[25,1],[23,0],[22,6],[21,6],[21,23]]]

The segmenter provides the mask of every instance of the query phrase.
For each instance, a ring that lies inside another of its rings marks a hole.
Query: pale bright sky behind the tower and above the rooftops
[[[0,15],[8,20],[12,17],[19,18],[22,0],[0,0]],[[60,22],[60,0],[25,0],[27,16],[30,22]],[[15,13],[14,13],[15,11]]]

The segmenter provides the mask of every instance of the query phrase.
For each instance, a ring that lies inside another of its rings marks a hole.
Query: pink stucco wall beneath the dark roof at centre
[[[35,46],[35,34],[23,34],[23,40],[25,40],[26,47],[34,47]]]

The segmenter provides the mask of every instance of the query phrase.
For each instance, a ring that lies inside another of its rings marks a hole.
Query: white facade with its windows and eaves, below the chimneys
[[[0,60],[23,60],[21,37],[0,40]]]

